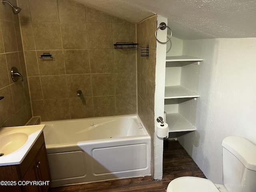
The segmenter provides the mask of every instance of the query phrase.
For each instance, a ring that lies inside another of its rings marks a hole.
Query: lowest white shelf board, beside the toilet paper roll
[[[169,132],[196,130],[196,128],[179,113],[166,114],[166,123],[169,126]]]

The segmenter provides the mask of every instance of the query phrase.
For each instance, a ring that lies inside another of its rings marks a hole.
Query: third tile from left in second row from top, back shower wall
[[[63,49],[87,49],[86,23],[60,24]]]

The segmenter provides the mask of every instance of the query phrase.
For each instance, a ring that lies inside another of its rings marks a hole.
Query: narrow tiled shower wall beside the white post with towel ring
[[[137,24],[139,47],[149,46],[149,56],[141,57],[137,50],[138,115],[151,136],[151,174],[154,173],[154,96],[156,74],[156,20],[151,16]]]

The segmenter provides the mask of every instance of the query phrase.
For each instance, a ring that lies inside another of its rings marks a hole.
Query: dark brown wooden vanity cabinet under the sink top
[[[0,181],[16,181],[16,185],[2,186],[0,191],[10,192],[47,192],[50,187],[50,168],[42,133],[19,165],[0,166]],[[42,183],[25,184],[26,181]]]

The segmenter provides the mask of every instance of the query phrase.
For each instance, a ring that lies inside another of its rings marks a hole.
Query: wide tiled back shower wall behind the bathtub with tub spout
[[[136,42],[135,24],[70,0],[18,2],[33,116],[136,114],[136,50],[113,46]]]

